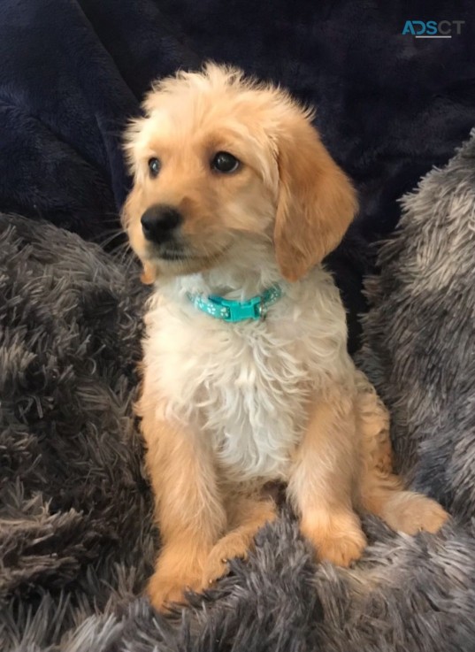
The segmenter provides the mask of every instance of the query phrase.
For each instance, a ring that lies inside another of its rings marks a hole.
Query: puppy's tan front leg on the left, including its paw
[[[142,406],[144,402],[142,401]],[[146,463],[155,493],[162,549],[148,593],[157,609],[202,587],[203,567],[226,528],[207,441],[192,428],[160,421],[142,409]]]

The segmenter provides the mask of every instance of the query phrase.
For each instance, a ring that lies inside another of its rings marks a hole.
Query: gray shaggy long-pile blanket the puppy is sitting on
[[[78,236],[0,219],[2,652],[475,650],[475,142],[403,209],[360,363],[402,471],[453,522],[409,537],[365,517],[370,546],[342,570],[284,510],[168,618],[141,597],[158,545],[131,410],[145,290]]]

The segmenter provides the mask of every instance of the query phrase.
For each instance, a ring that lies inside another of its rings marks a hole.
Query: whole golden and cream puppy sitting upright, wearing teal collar
[[[321,265],[356,194],[312,111],[213,64],[159,81],[143,108],[123,219],[155,284],[137,404],[162,537],[153,604],[246,556],[276,517],[276,480],[320,560],[362,555],[361,510],[436,532],[448,515],[393,473],[387,411]]]

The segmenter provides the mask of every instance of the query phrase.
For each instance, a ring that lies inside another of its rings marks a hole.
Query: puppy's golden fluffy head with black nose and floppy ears
[[[123,219],[144,280],[205,270],[249,239],[297,280],[341,241],[355,192],[286,92],[209,64],[160,81],[143,108]]]

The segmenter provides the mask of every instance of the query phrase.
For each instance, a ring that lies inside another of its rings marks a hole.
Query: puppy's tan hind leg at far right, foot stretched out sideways
[[[393,472],[387,410],[361,373],[358,373],[358,389],[362,507],[382,518],[395,531],[437,532],[448,519],[447,512],[432,498],[404,490],[402,479]]]

